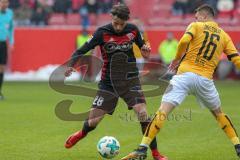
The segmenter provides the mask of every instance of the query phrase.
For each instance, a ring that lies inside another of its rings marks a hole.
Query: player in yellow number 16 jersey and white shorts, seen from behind
[[[214,22],[214,9],[202,5],[196,10],[197,22],[191,23],[181,38],[175,60],[169,70],[177,70],[165,91],[162,103],[145,132],[140,146],[122,160],[143,160],[152,139],[163,127],[167,115],[183,102],[188,94],[193,94],[200,105],[207,107],[220,127],[235,146],[240,157],[240,142],[230,119],[221,110],[218,92],[212,80],[220,55],[224,52],[228,59],[240,69],[240,56],[226,32]]]

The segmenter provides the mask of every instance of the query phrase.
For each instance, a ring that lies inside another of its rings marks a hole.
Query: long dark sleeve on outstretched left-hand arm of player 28
[[[78,59],[86,54],[88,51],[90,51],[91,49],[94,49],[97,45],[102,44],[103,40],[102,40],[102,32],[100,29],[98,29],[93,36],[86,42],[84,43],[83,46],[81,46],[80,48],[78,48],[73,54],[72,57],[68,63],[69,67],[73,67],[75,65],[75,63],[78,61]]]

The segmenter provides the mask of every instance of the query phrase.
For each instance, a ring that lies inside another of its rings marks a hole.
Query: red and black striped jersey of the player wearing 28
[[[141,33],[135,25],[128,23],[121,33],[116,33],[112,24],[107,24],[99,27],[91,39],[74,52],[69,65],[74,66],[78,60],[76,57],[84,55],[99,45],[103,59],[102,82],[109,84],[113,77],[126,73],[128,76],[136,75],[138,69],[133,53],[133,43],[136,43],[139,48],[144,45]],[[112,74],[113,72],[115,74]]]

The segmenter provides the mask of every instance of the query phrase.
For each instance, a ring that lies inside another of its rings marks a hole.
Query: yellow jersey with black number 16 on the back
[[[221,54],[224,52],[231,60],[239,55],[229,35],[216,22],[193,22],[185,34],[191,36],[185,55],[178,68],[178,74],[193,72],[212,79]],[[183,36],[184,37],[184,36]]]

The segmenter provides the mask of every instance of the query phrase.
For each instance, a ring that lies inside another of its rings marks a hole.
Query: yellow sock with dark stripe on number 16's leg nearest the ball
[[[149,123],[144,137],[142,139],[141,145],[149,146],[152,140],[155,138],[159,130],[162,128],[164,121],[167,119],[165,112],[157,111],[155,117]]]

